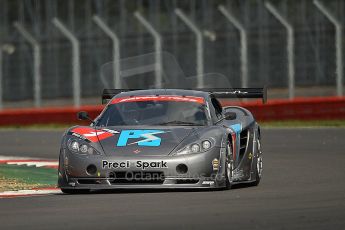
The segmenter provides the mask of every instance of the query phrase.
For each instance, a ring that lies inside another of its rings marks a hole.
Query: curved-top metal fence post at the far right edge
[[[337,65],[337,95],[343,95],[343,26],[340,20],[336,18],[319,0],[314,0],[314,5],[325,15],[329,21],[335,26],[335,50],[336,50],[336,65]]]

